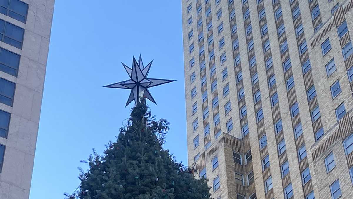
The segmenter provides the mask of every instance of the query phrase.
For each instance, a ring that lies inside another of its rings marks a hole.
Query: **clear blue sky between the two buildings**
[[[150,78],[178,80],[151,88],[148,104],[171,123],[164,148],[187,163],[180,0],[56,0],[30,199],[72,193],[79,161],[116,140],[129,90],[102,86],[128,79],[121,62],[139,54],[154,59]]]

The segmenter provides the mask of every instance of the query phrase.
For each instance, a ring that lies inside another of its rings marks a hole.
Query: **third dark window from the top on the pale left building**
[[[20,55],[5,50],[4,48],[0,48],[0,71],[17,77],[19,62]]]

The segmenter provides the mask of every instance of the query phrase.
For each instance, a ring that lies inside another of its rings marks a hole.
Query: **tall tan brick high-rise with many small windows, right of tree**
[[[189,165],[215,199],[353,198],[352,0],[182,0]]]

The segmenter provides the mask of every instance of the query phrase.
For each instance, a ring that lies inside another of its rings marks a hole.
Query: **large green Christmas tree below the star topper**
[[[132,108],[126,127],[103,155],[84,161],[79,190],[70,199],[210,199],[207,180],[178,163],[162,148],[169,130],[165,119],[156,120],[144,102]],[[77,194],[77,195],[76,195]]]

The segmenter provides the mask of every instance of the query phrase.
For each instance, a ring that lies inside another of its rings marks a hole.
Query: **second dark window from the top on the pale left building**
[[[1,10],[1,6],[0,6],[0,10]],[[23,42],[23,35],[24,35],[24,29],[0,19],[0,36],[1,36],[2,42],[21,49],[22,42]]]

